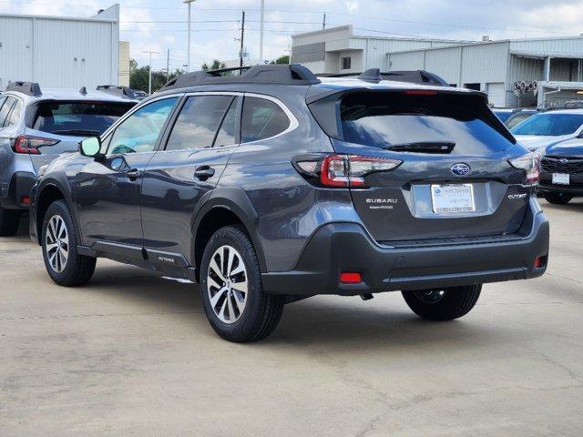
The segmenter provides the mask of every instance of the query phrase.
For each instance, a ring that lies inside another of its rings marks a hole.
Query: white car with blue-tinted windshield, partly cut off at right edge
[[[547,147],[583,133],[583,109],[541,112],[510,131],[528,150],[544,153]]]

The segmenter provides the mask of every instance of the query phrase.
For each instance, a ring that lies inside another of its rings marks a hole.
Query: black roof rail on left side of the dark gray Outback
[[[240,75],[231,75],[230,73],[233,71],[240,71]],[[299,64],[290,66],[270,64],[267,66],[242,66],[186,73],[170,79],[165,86],[162,86],[160,91],[186,86],[217,84],[315,85],[319,83],[320,79],[305,66]]]

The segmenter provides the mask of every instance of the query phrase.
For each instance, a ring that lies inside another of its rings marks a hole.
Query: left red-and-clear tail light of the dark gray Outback
[[[368,188],[364,177],[391,171],[403,161],[358,155],[327,155],[323,158],[296,158],[295,168],[315,185],[327,188]]]

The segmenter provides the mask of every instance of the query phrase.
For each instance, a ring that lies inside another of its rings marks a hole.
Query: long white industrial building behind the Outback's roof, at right
[[[353,36],[350,25],[292,36],[292,62],[316,73],[423,69],[484,91],[495,107],[560,106],[583,97],[583,36],[451,41]],[[345,68],[349,67],[349,68]]]

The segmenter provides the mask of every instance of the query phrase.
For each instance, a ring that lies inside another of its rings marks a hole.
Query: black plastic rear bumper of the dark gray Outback
[[[397,249],[379,246],[358,224],[328,224],[312,236],[296,269],[262,274],[263,287],[274,294],[350,296],[537,278],[547,267],[536,268],[535,259],[547,259],[549,228],[536,200],[530,205],[520,232],[493,242]],[[361,273],[363,282],[339,283],[343,271]]]

